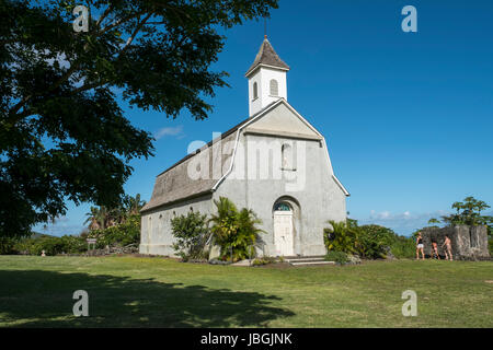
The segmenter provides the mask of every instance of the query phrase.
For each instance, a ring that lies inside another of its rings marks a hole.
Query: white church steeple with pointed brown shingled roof
[[[279,58],[265,36],[255,60],[245,73],[249,79],[250,116],[276,100],[287,100],[288,70],[289,66]]]

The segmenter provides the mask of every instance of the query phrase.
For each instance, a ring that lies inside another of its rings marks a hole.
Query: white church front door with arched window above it
[[[293,207],[287,201],[274,205],[274,245],[277,256],[294,256]]]

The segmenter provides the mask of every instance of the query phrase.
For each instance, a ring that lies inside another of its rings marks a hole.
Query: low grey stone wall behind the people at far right
[[[457,225],[452,228],[426,228],[422,230],[424,253],[432,255],[432,242],[438,245],[438,254],[445,257],[445,235],[451,241],[452,257],[455,260],[489,259],[488,229],[486,226]]]

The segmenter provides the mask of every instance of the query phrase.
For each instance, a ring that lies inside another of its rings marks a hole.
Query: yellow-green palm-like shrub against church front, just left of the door
[[[221,258],[228,256],[233,260],[250,258],[254,249],[262,243],[260,230],[256,225],[262,223],[255,213],[246,208],[237,209],[233,202],[226,197],[215,200],[217,214],[210,218],[211,237],[214,244],[219,245],[221,249]],[[232,256],[231,256],[232,255]]]

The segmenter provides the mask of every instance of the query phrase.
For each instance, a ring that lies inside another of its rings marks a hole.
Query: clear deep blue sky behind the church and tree
[[[417,33],[404,33],[404,5],[417,9]],[[152,132],[156,156],[135,160],[125,189],[150,199],[156,175],[248,117],[244,72],[264,34],[263,21],[225,32],[215,70],[230,73],[215,110],[195,121],[128,108]],[[267,24],[271,44],[291,70],[288,102],[329,145],[335,174],[349,190],[351,218],[410,234],[450,205],[474,196],[493,206],[492,1],[287,1]],[[37,231],[82,230],[90,205]]]

